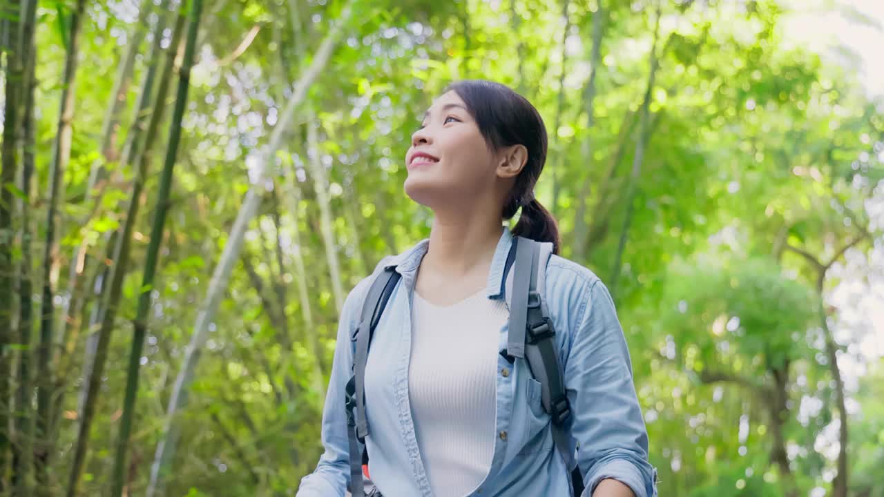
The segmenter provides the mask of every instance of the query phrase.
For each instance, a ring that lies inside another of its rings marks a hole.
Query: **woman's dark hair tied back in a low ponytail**
[[[449,90],[467,104],[489,147],[498,150],[521,144],[528,149],[528,161],[515,178],[501,215],[504,219],[512,218],[522,207],[522,216],[513,234],[536,241],[552,241],[552,253],[558,254],[561,245],[558,223],[534,198],[534,186],[546,162],[544,119],[524,96],[494,81],[459,80],[448,85],[443,93]]]

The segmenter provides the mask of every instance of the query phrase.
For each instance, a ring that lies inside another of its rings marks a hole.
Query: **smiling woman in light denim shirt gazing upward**
[[[555,220],[534,198],[546,158],[537,110],[499,83],[446,88],[412,135],[405,192],[434,214],[430,238],[377,271],[401,279],[371,339],[365,369],[369,473],[385,497],[565,496],[540,384],[507,361],[501,283],[515,235],[552,242],[545,303],[579,445],[585,496],[651,497],[656,470],[613,301],[592,271],[558,256]],[[503,220],[522,209],[512,233]],[[370,278],[347,296],[325,400],[316,471],[298,497],[345,495],[350,481],[345,385]],[[511,372],[512,371],[512,372]]]

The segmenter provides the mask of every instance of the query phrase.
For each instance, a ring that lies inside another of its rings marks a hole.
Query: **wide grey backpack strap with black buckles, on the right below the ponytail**
[[[555,328],[541,296],[545,291],[546,263],[552,253],[552,243],[539,243],[521,236],[517,240],[507,354],[517,357],[512,350],[521,336],[523,356],[531,375],[540,383],[544,410],[552,417],[552,439],[568,470],[574,470],[574,452],[568,433],[571,408],[559,363]]]

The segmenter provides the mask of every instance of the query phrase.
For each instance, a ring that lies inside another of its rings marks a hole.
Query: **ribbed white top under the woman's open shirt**
[[[484,288],[448,306],[414,293],[408,398],[435,497],[471,493],[491,467],[499,332],[508,318]]]

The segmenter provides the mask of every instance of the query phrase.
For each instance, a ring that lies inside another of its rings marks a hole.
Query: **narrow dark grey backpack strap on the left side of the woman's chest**
[[[365,437],[368,436],[369,421],[365,416],[365,364],[368,363],[369,346],[375,333],[377,322],[392,290],[399,282],[401,275],[393,266],[385,267],[377,273],[371,282],[369,293],[362,302],[362,319],[350,340],[356,342],[353,357],[353,375],[347,382],[347,438],[349,439],[350,456],[350,492],[353,497],[364,497],[362,484],[362,462],[368,458],[365,452]],[[360,450],[362,445],[362,450]]]

